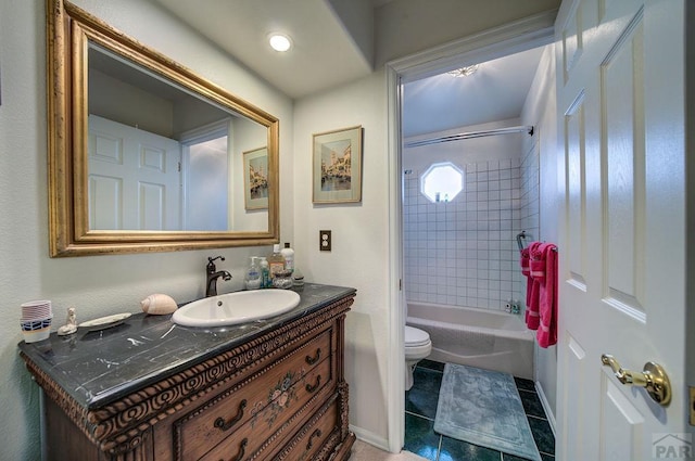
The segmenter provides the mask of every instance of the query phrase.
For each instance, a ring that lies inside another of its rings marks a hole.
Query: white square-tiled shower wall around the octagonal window
[[[465,181],[448,203],[420,193],[426,168],[404,176],[408,300],[498,310],[508,299],[523,302],[516,235],[538,235],[536,145],[507,159],[453,162]]]

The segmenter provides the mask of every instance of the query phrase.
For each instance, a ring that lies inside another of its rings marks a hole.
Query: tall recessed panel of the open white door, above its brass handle
[[[644,85],[642,10],[601,65],[606,302],[644,321]]]

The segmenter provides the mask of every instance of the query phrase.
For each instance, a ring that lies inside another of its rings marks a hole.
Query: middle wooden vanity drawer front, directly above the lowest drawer
[[[270,389],[269,396],[275,398],[269,404],[265,399],[258,400],[260,410],[255,412],[256,405],[252,407],[251,420],[200,460],[265,459],[264,452],[269,448],[267,440],[281,441],[298,431],[303,421],[334,393],[334,388],[331,360],[323,360],[289,388]],[[277,390],[280,393],[276,396]]]

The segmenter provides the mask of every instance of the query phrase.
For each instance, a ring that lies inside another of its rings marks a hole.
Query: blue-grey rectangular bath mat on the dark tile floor
[[[541,461],[519,392],[507,373],[446,363],[434,432]]]

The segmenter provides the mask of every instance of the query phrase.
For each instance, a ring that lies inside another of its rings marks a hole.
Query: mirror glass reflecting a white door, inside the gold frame
[[[263,125],[93,42],[88,63],[90,230],[267,229],[235,201]]]

